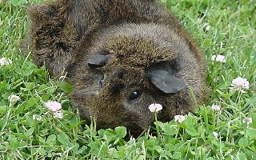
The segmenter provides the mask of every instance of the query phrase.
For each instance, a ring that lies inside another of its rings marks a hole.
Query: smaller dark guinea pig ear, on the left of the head
[[[101,52],[98,52],[91,55],[87,63],[90,67],[99,68],[105,66],[109,58],[110,54],[102,54]]]

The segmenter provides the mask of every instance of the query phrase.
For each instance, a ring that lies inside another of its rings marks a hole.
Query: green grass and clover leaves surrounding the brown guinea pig
[[[146,132],[137,139],[122,126],[82,127],[85,122],[67,98],[70,85],[19,54],[28,27],[25,2],[0,2],[0,58],[12,61],[0,67],[0,159],[256,158],[255,0],[163,1],[206,54],[210,100],[182,123],[155,122],[158,136]],[[213,62],[214,54],[225,55],[226,62]],[[246,93],[230,90],[237,77],[250,82]],[[21,99],[10,102],[11,94]],[[64,118],[53,118],[43,106],[47,101],[61,102]],[[212,104],[221,106],[221,113]],[[245,118],[252,123],[243,123]]]

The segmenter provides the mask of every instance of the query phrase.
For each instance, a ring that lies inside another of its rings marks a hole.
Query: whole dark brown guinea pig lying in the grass
[[[132,133],[194,110],[207,98],[206,64],[194,40],[154,0],[73,0],[28,10],[33,59],[51,74],[67,72],[82,118]]]

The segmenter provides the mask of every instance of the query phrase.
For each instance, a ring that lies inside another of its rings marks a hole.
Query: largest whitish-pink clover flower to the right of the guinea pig
[[[247,81],[246,78],[238,77],[232,80],[230,90],[239,90],[242,93],[246,93],[244,89],[248,90],[249,87],[250,83]]]

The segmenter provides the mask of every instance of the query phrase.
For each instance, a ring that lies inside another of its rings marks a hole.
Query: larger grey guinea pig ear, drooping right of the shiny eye
[[[185,82],[180,78],[174,77],[167,70],[151,69],[147,72],[147,75],[150,78],[150,82],[166,94],[175,94],[179,90],[186,89]]]

